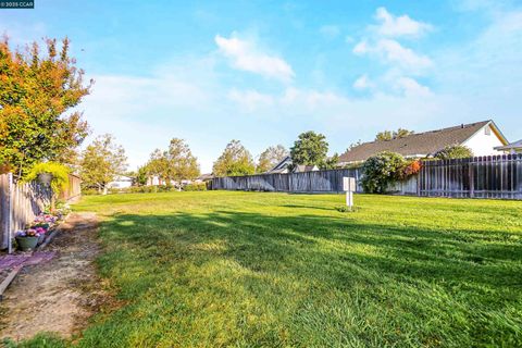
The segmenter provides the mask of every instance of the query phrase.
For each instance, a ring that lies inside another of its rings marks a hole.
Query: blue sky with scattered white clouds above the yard
[[[331,153],[487,119],[522,138],[521,2],[36,0],[0,32],[70,37],[96,80],[79,109],[130,169],[172,137],[203,172],[231,139],[258,156],[310,129]]]

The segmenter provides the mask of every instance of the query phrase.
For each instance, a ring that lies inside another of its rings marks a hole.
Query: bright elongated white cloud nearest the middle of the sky
[[[220,52],[231,60],[232,66],[285,83],[291,82],[295,74],[291,66],[282,58],[260,51],[251,41],[241,40],[235,35],[229,38],[216,35],[215,44]]]

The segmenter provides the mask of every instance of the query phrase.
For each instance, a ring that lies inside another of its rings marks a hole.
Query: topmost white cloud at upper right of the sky
[[[395,16],[385,8],[377,9],[375,18],[381,22],[381,24],[376,27],[376,30],[383,36],[419,37],[422,34],[433,29],[431,24],[414,21],[406,14],[401,16]]]

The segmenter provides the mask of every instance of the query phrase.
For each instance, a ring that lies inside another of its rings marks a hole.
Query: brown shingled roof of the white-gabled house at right
[[[382,151],[393,151],[405,157],[435,154],[448,145],[462,145],[488,124],[492,124],[495,134],[502,140],[502,142],[507,142],[495,123],[489,120],[437,130],[417,133],[403,138],[364,142],[343,153],[339,157],[339,163],[365,161],[369,157]]]

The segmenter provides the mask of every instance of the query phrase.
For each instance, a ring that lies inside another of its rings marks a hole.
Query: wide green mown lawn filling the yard
[[[85,347],[522,346],[522,202],[86,197],[125,303]]]

